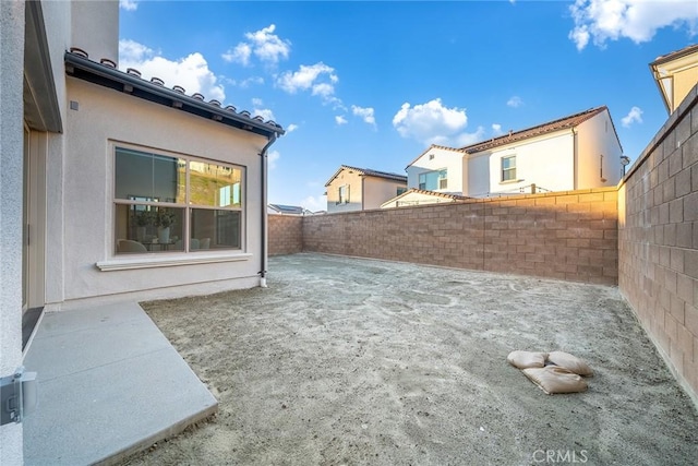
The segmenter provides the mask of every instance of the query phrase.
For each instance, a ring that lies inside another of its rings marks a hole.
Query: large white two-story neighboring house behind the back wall
[[[408,186],[469,198],[610,187],[622,157],[603,106],[466,147],[432,145],[407,167]]]

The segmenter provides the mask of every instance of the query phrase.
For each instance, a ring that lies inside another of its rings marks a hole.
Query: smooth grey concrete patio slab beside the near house
[[[26,465],[115,463],[218,406],[134,302],[47,313],[24,365],[39,381]]]

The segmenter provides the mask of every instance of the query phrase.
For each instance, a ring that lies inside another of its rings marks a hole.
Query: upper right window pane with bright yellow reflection
[[[242,205],[242,170],[240,168],[190,162],[191,204],[212,207],[240,207]]]

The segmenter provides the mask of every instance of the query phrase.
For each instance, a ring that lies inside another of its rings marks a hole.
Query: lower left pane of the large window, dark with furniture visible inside
[[[183,251],[184,210],[117,204],[118,254]]]

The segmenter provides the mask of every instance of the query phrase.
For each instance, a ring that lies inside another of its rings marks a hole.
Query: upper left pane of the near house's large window
[[[115,193],[132,201],[183,202],[183,160],[117,147]]]

